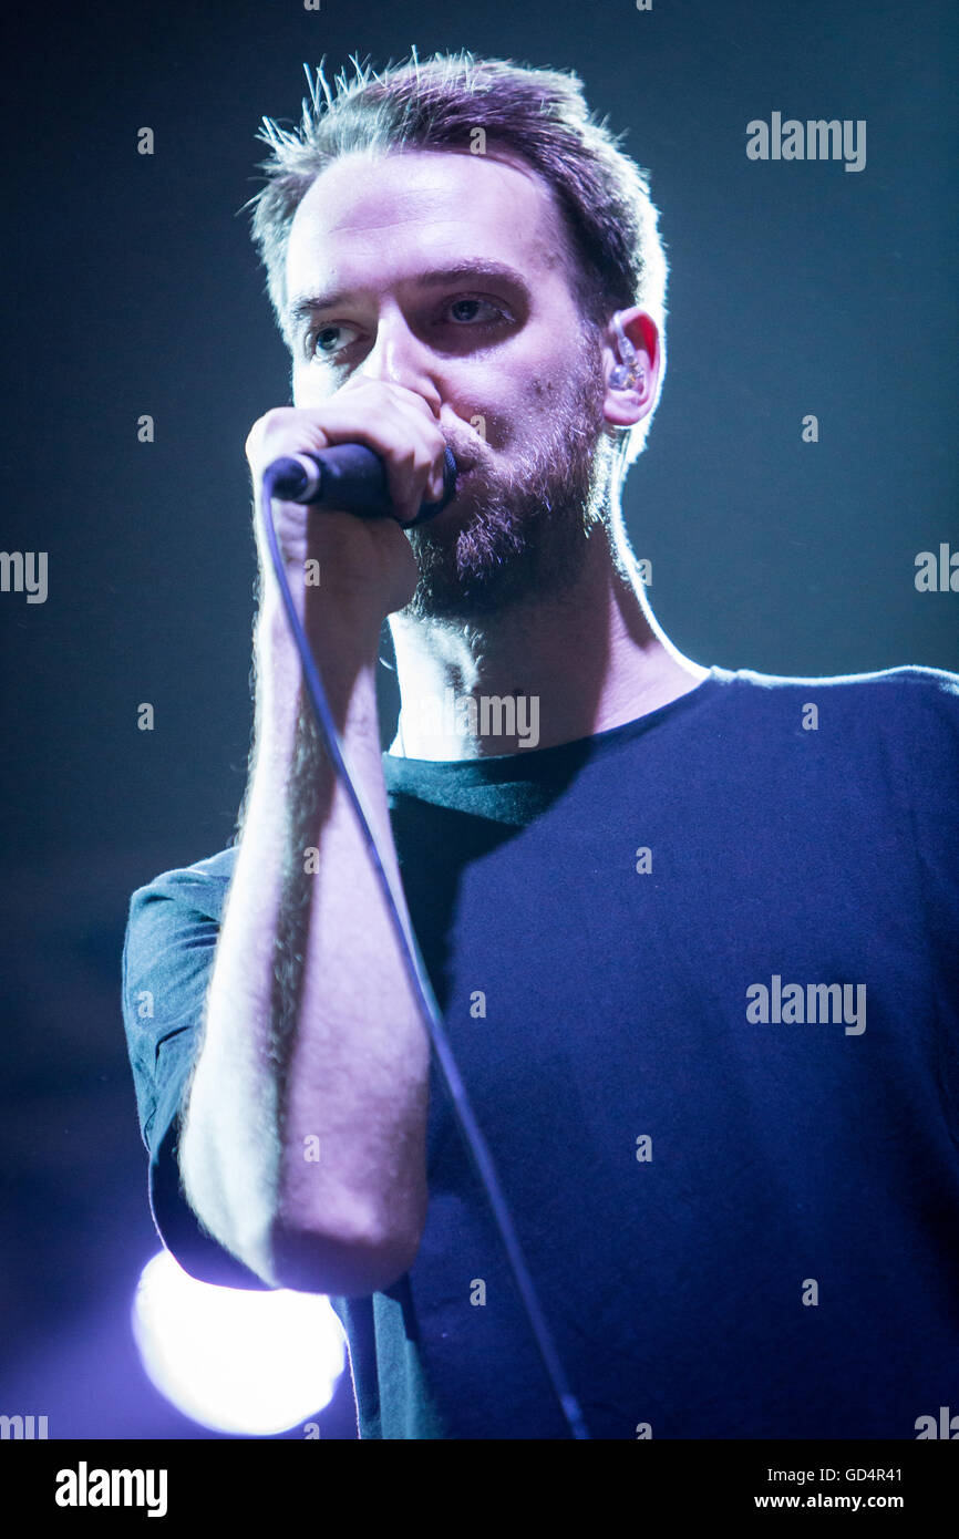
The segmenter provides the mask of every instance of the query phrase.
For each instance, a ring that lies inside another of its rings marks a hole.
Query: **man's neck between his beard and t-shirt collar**
[[[625,546],[588,542],[582,577],[482,623],[389,619],[402,709],[389,749],[485,759],[554,748],[647,716],[708,669],[660,631]]]

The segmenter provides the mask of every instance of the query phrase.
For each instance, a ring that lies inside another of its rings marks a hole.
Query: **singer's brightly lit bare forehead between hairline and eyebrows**
[[[456,151],[351,152],[320,172],[300,202],[286,252],[288,275],[336,265],[339,255],[388,255],[422,242],[426,266],[446,255],[486,255],[520,271],[566,260],[548,185],[505,154]]]

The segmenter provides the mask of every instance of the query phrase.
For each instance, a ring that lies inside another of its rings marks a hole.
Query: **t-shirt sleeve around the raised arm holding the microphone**
[[[180,1182],[179,1137],[188,1080],[200,1048],[203,1000],[219,936],[212,879],[166,873],[139,888],[123,942],[123,1025],[140,1133],[149,1154],[148,1193],[168,1251],[200,1282],[269,1285],[203,1228]]]

